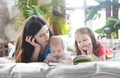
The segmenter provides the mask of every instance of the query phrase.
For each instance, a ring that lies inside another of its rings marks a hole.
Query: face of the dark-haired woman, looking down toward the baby
[[[47,25],[43,26],[41,30],[35,35],[35,40],[42,47],[45,47],[49,41],[49,29]]]

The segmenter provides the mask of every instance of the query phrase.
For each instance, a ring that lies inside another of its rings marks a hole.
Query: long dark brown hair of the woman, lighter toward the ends
[[[38,16],[29,17],[24,24],[23,31],[18,37],[16,43],[15,59],[16,62],[30,62],[33,55],[34,47],[25,41],[26,36],[35,36],[43,26],[47,25],[43,18]],[[49,30],[50,31],[50,30]],[[52,33],[50,32],[50,36]],[[37,57],[37,56],[36,56]]]

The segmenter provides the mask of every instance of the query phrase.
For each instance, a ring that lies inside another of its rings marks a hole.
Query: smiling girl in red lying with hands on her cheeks
[[[77,55],[91,55],[97,61],[105,61],[107,55],[113,54],[112,50],[105,48],[96,40],[93,31],[88,27],[76,30],[75,48]]]

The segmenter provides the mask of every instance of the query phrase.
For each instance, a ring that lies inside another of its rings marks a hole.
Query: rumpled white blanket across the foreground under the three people
[[[120,62],[48,66],[42,62],[14,63],[0,58],[0,78],[120,78]]]

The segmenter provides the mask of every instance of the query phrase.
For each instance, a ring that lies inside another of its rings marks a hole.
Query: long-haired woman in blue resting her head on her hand
[[[16,43],[16,62],[43,62],[50,53],[50,37],[51,32],[42,18],[35,15],[29,17]]]

